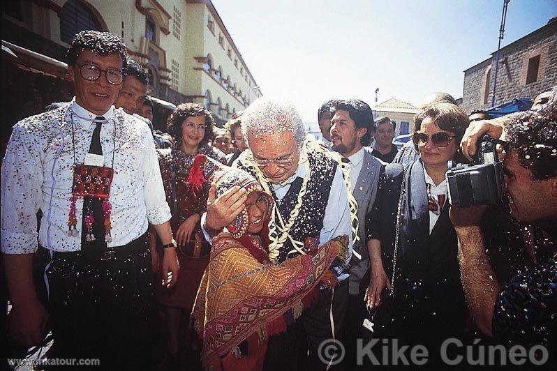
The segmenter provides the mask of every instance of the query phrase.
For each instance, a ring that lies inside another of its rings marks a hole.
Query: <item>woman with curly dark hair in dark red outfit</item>
[[[172,289],[157,285],[159,289],[156,293],[158,302],[165,307],[172,363],[178,363],[181,316],[184,312],[191,312],[201,276],[209,262],[211,246],[200,230],[200,218],[207,207],[208,188],[201,190],[198,197],[193,197],[186,180],[193,158],[199,153],[226,163],[225,154],[209,146],[213,139],[213,127],[213,116],[203,105],[181,104],[168,117],[168,132],[174,138],[174,144],[170,149],[157,150],[166,198],[172,211],[170,224],[178,245],[180,264],[177,284]],[[159,271],[157,250],[160,247],[157,245],[154,239],[150,240],[154,271]],[[159,277],[158,281],[162,279]]]

